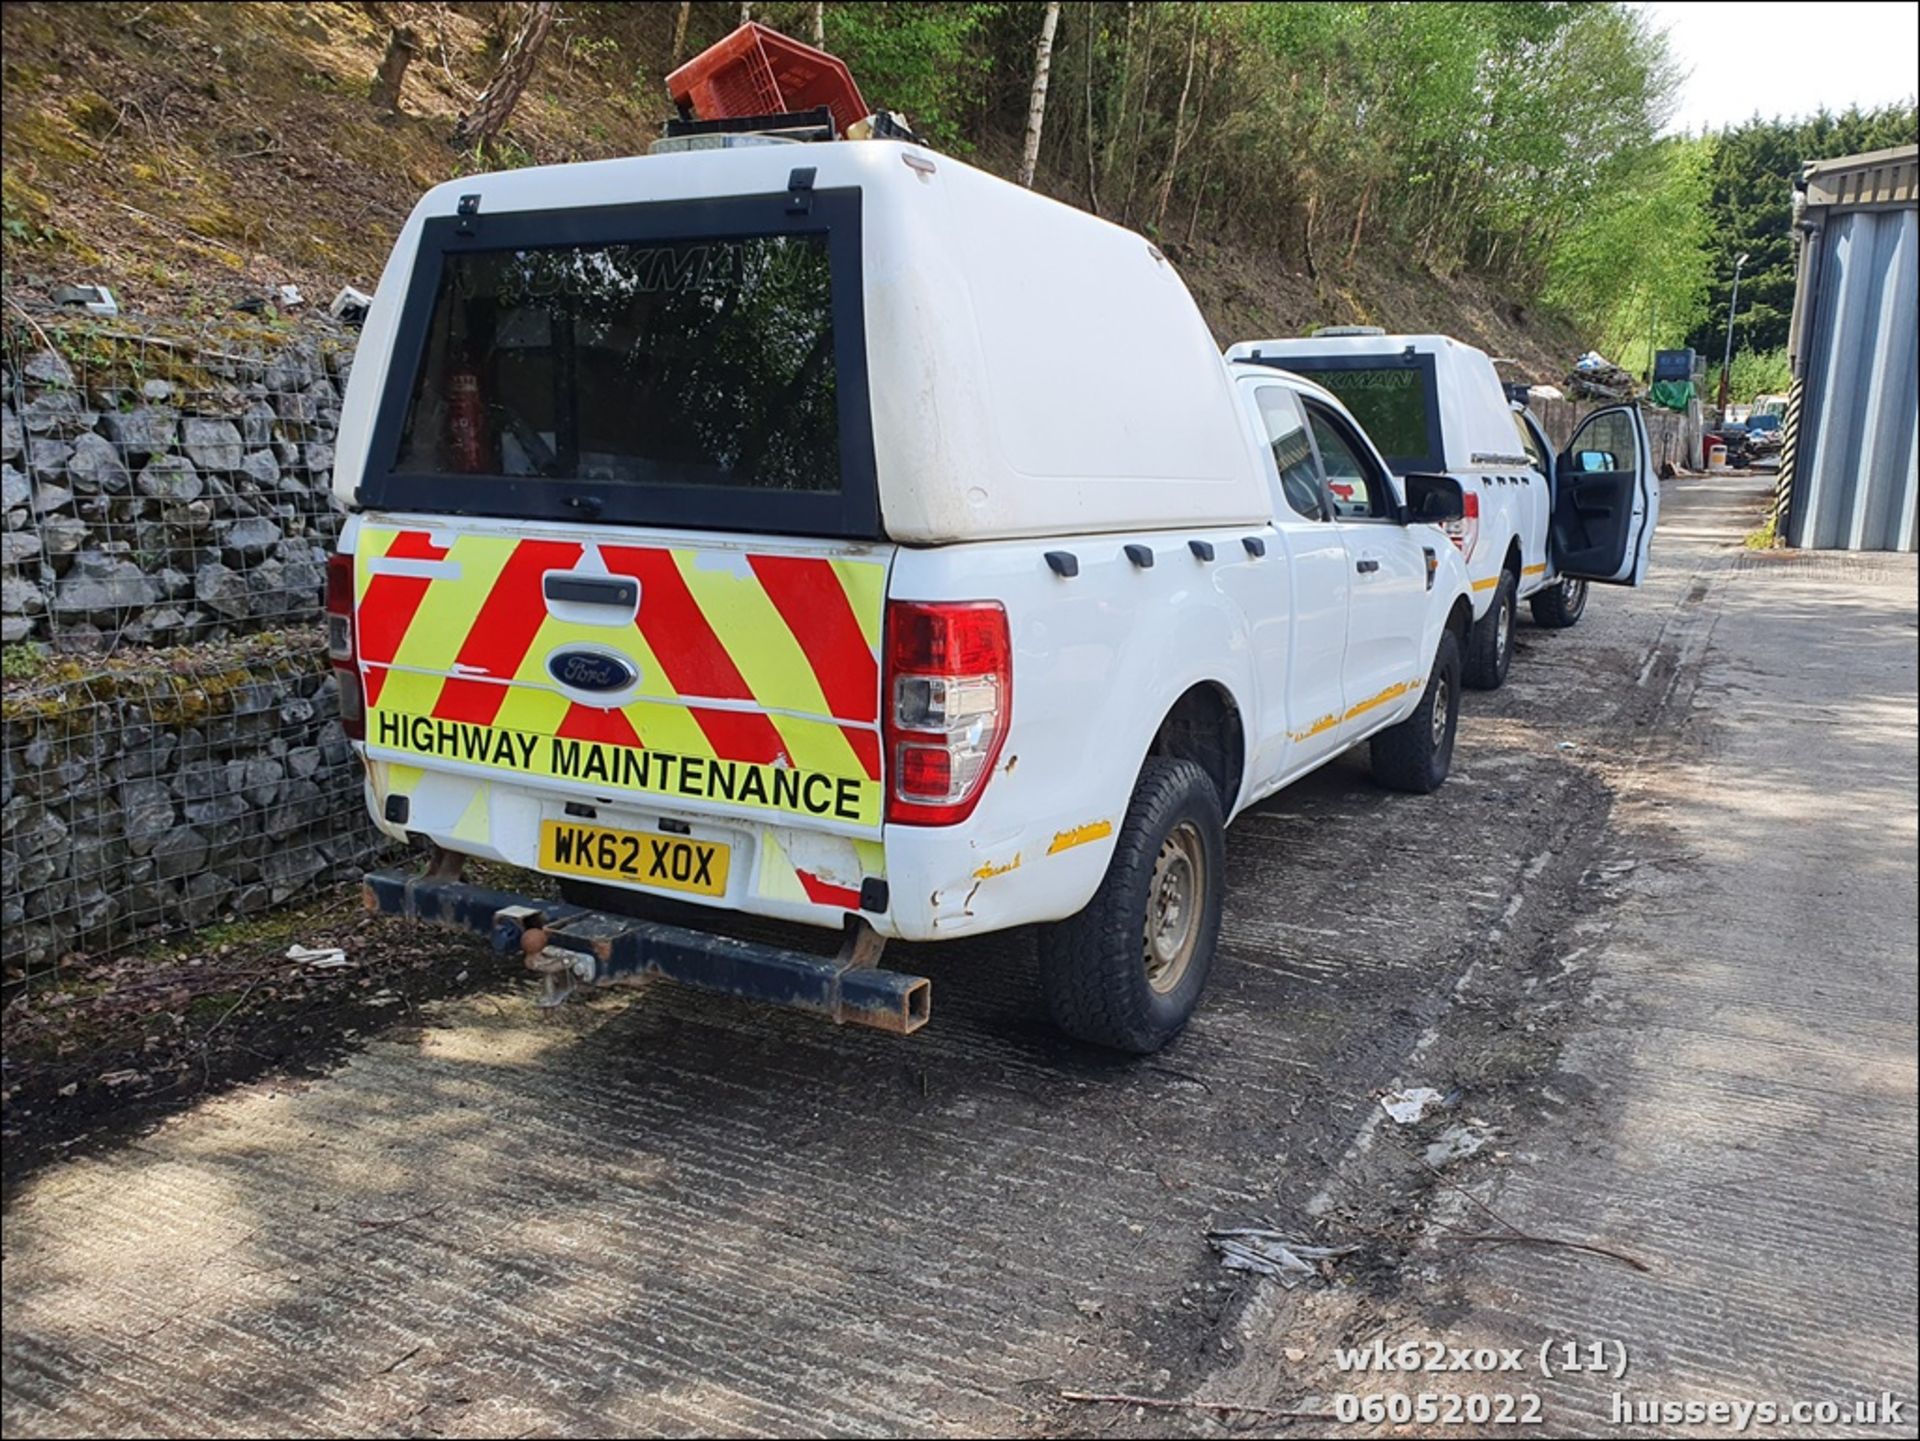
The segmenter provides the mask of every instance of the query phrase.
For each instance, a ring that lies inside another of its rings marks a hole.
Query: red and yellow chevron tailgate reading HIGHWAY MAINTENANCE
[[[879,835],[891,547],[369,514],[374,760]]]

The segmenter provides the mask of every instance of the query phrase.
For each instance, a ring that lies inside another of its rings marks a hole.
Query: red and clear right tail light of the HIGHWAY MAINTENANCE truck
[[[1006,741],[1014,647],[995,601],[887,604],[887,819],[956,825]]]

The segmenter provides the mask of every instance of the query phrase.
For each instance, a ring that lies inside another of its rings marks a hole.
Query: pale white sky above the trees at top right
[[[1895,0],[1651,0],[1692,75],[1668,130],[1699,132],[1751,119],[1811,115],[1912,100],[1920,90],[1920,4]]]

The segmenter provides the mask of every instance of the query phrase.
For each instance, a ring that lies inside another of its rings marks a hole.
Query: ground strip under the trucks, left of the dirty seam
[[[1423,1217],[1551,1124],[1567,940],[1620,904],[1615,796],[1682,743],[1690,614],[1751,505],[1670,485],[1657,583],[1523,626],[1438,794],[1348,758],[1242,815],[1210,998],[1146,1061],[1058,1040],[1012,934],[897,959],[935,982],[912,1040],[505,988],[38,1170],[6,1213],[4,1429],[1058,1433],[1212,1424],[1062,1391],[1292,1395],[1242,1355],[1290,1303],[1204,1232],[1361,1245],[1323,1332],[1286,1332],[1319,1355],[1407,1314]],[[1498,1138],[1448,1180],[1365,1144],[1423,1080]]]

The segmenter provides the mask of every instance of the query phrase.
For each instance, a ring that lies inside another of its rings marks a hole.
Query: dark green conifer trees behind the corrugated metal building
[[[1849,109],[1845,115],[1820,111],[1797,121],[1755,117],[1715,136],[1707,200],[1715,278],[1707,315],[1688,336],[1688,343],[1718,359],[1726,345],[1734,259],[1745,253],[1734,343],[1763,351],[1786,345],[1797,261],[1793,180],[1801,165],[1811,159],[1910,146],[1914,138],[1916,111],[1910,104],[1872,111]]]

